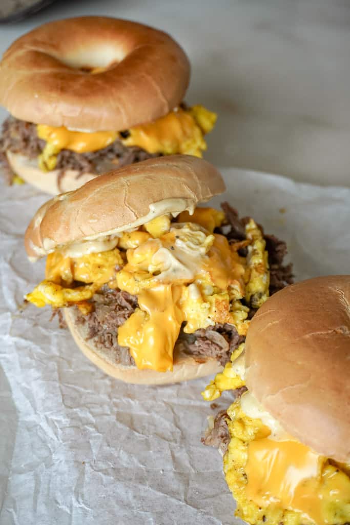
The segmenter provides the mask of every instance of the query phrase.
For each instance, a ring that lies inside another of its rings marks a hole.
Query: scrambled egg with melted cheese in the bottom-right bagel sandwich
[[[340,525],[350,520],[345,470],[291,436],[272,438],[271,429],[243,412],[240,402],[227,413],[231,440],[224,472],[237,500],[237,516],[259,525]]]

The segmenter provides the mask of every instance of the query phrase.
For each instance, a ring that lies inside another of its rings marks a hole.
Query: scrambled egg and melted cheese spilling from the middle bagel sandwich
[[[45,281],[26,299],[38,307],[76,303],[87,312],[86,301],[104,284],[136,295],[138,308],[119,329],[119,344],[130,348],[139,368],[171,370],[183,323],[186,333],[230,323],[245,335],[246,304],[255,305],[254,298],[260,303],[268,296],[261,230],[253,220],[247,224],[248,257],[240,257],[235,244],[214,233],[224,219],[213,208],[197,208],[193,216],[183,213],[172,221],[163,215],[124,232],[113,239],[113,249],[80,257],[57,250],[47,258]]]

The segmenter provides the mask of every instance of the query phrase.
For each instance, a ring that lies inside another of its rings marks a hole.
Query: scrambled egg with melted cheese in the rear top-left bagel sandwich
[[[98,151],[107,148],[116,139],[125,146],[137,146],[149,153],[184,153],[201,157],[202,152],[207,149],[204,134],[214,128],[216,118],[215,113],[203,106],[194,106],[189,109],[177,108],[154,122],[122,132],[88,133],[38,124],[37,135],[39,139],[46,141],[44,150],[38,157],[38,164],[43,171],[54,170],[61,150],[77,153]]]

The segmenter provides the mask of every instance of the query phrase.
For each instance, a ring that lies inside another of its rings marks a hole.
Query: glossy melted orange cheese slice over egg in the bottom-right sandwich
[[[327,459],[294,440],[254,439],[248,446],[246,495],[260,507],[280,505],[317,525],[332,523],[329,509],[350,506],[350,480]],[[345,521],[350,517],[348,509]]]

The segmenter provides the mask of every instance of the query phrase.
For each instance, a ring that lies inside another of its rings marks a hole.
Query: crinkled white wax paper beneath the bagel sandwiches
[[[224,198],[287,240],[296,279],[349,272],[349,189],[223,173]],[[200,396],[206,379],[123,384],[80,353],[49,308],[19,311],[43,278],[44,261],[27,261],[23,233],[46,198],[1,185],[0,523],[241,523],[221,457],[200,443],[216,412]]]

